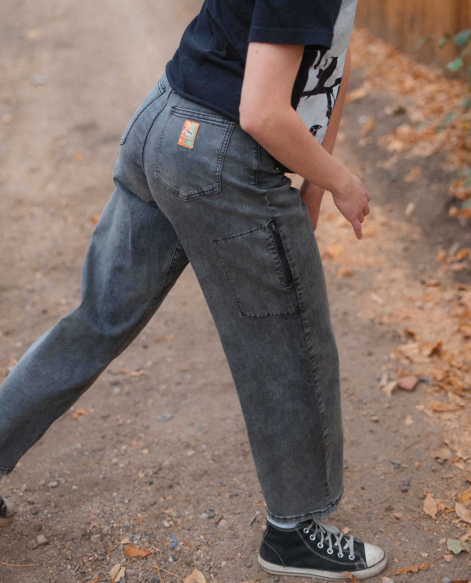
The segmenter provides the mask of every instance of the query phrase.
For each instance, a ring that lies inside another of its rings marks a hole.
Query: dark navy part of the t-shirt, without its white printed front
[[[304,45],[293,89],[296,108],[309,69],[331,47],[341,5],[342,0],[205,0],[167,64],[168,81],[182,97],[239,121],[249,42]]]

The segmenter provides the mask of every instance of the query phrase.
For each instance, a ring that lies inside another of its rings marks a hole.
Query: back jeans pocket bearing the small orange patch
[[[190,201],[221,190],[221,170],[235,122],[173,106],[157,146],[155,180]]]

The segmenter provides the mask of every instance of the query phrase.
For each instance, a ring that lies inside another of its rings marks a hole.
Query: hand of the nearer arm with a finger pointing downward
[[[361,239],[364,217],[370,214],[368,203],[371,196],[363,186],[360,178],[347,172],[343,184],[332,192],[335,206],[348,222],[352,223],[357,239]]]

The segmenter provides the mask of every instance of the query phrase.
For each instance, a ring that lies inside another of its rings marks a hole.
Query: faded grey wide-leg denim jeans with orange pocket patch
[[[330,514],[342,493],[338,354],[299,191],[239,124],[165,75],[134,114],[94,231],[82,303],[0,387],[0,473],[144,328],[189,261],[231,368],[268,513]]]

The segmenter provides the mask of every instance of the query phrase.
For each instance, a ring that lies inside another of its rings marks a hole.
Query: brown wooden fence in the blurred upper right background
[[[471,28],[471,0],[359,0],[355,22],[421,61],[445,65],[459,50],[437,41]]]

